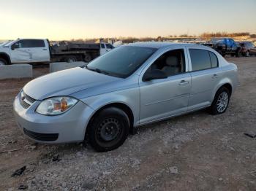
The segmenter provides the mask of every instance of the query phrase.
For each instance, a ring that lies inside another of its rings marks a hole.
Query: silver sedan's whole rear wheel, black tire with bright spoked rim
[[[227,106],[230,102],[230,90],[226,87],[221,87],[215,97],[214,101],[211,104],[210,112],[211,114],[222,114],[226,112]]]

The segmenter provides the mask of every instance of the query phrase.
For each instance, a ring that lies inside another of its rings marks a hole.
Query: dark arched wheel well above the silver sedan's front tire
[[[108,105],[105,105],[105,106],[102,106],[100,109],[97,110],[97,112],[94,113],[94,115],[91,117],[87,127],[90,125],[91,121],[93,120],[94,116],[96,116],[99,112],[101,112],[103,109],[106,109],[108,107],[116,107],[118,109],[121,109],[123,110],[127,116],[129,117],[129,124],[130,124],[130,131],[132,130],[133,128],[133,122],[134,122],[134,116],[133,116],[133,113],[132,113],[132,109],[129,108],[129,106],[127,106],[126,104],[121,104],[121,103],[113,103],[113,104],[108,104]],[[87,129],[86,128],[86,132],[87,132]]]

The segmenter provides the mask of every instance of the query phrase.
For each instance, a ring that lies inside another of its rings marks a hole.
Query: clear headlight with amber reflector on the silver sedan
[[[45,99],[39,104],[36,112],[39,114],[56,115],[67,112],[78,100],[70,97],[53,97]]]

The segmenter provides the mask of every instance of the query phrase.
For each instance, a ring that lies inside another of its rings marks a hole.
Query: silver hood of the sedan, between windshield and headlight
[[[31,80],[23,87],[23,91],[31,98],[42,100],[53,96],[70,95],[80,90],[108,84],[118,79],[117,77],[110,77],[77,67],[57,71]]]

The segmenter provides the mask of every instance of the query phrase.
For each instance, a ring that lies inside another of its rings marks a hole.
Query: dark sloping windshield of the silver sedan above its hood
[[[115,77],[129,77],[156,50],[149,47],[121,46],[91,61],[86,68]]]

